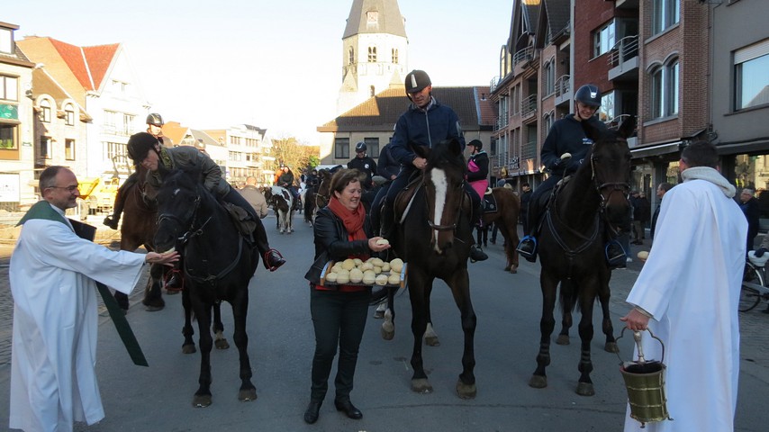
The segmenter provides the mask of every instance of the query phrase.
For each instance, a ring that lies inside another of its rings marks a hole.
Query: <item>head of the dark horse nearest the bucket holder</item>
[[[583,121],[584,133],[593,139],[590,169],[600,195],[601,211],[616,227],[626,220],[630,209],[630,149],[628,137],[636,129],[635,116],[622,121],[618,130],[599,130]]]

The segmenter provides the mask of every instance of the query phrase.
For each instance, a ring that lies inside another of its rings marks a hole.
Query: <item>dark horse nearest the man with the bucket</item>
[[[593,339],[593,305],[596,298],[603,311],[602,328],[605,349],[616,351],[609,316],[609,280],[611,270],[604,257],[604,233],[619,226],[629,213],[630,150],[626,140],[636,127],[634,117],[623,122],[619,130],[600,131],[585,124],[585,135],[593,139],[584,163],[550,199],[539,236],[539,259],[542,270],[541,338],[537,369],[529,385],[547,387],[545,368],[550,364],[550,335],[556,320],[553,309],[556,290],[561,284],[560,302],[564,311],[564,331],[571,326],[571,311],[582,312],[579,336],[582,341],[577,394],[593,396],[593,362],[590,343]]]

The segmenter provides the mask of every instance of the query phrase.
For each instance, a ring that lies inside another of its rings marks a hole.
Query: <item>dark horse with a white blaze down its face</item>
[[[465,157],[456,139],[443,141],[432,149],[422,146],[413,146],[413,149],[427,159],[427,167],[410,185],[412,197],[406,192],[396,199],[396,220],[401,222],[394,241],[391,240],[395,253],[408,263],[414,337],[412,391],[432,392],[422,365],[421,338],[430,322],[430,292],[438,277],[448,284],[454,295],[465,333],[463,370],[457,393],[463,399],[475,398],[475,311],[470,302],[467,275],[467,259],[473,243],[469,222],[472,202],[464,188]],[[388,299],[391,309],[393,295],[391,290]]]

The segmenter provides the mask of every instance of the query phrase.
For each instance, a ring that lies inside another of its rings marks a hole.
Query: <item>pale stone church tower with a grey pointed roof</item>
[[[397,0],[353,0],[342,36],[337,113],[347,112],[408,73],[405,19]]]

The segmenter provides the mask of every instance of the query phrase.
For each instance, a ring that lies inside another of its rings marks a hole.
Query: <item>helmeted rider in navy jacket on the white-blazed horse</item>
[[[382,209],[382,235],[388,239],[392,238],[394,233],[395,197],[409,184],[412,174],[424,170],[427,166],[427,159],[418,157],[412,150],[412,146],[431,148],[444,139],[454,138],[459,141],[462,149],[465,148],[465,136],[459,125],[457,113],[432,97],[430,76],[423,70],[412,70],[406,75],[405,87],[406,96],[412,101],[412,105],[395,123],[391,142],[391,151],[395,160],[401,163],[401,172],[390,185],[385,206]],[[470,184],[465,183],[465,190],[473,201],[473,215],[470,222],[475,225],[475,220],[478,220],[481,214],[481,197],[475,193]],[[471,261],[483,261],[487,258],[484,251],[475,244],[470,247]]]

